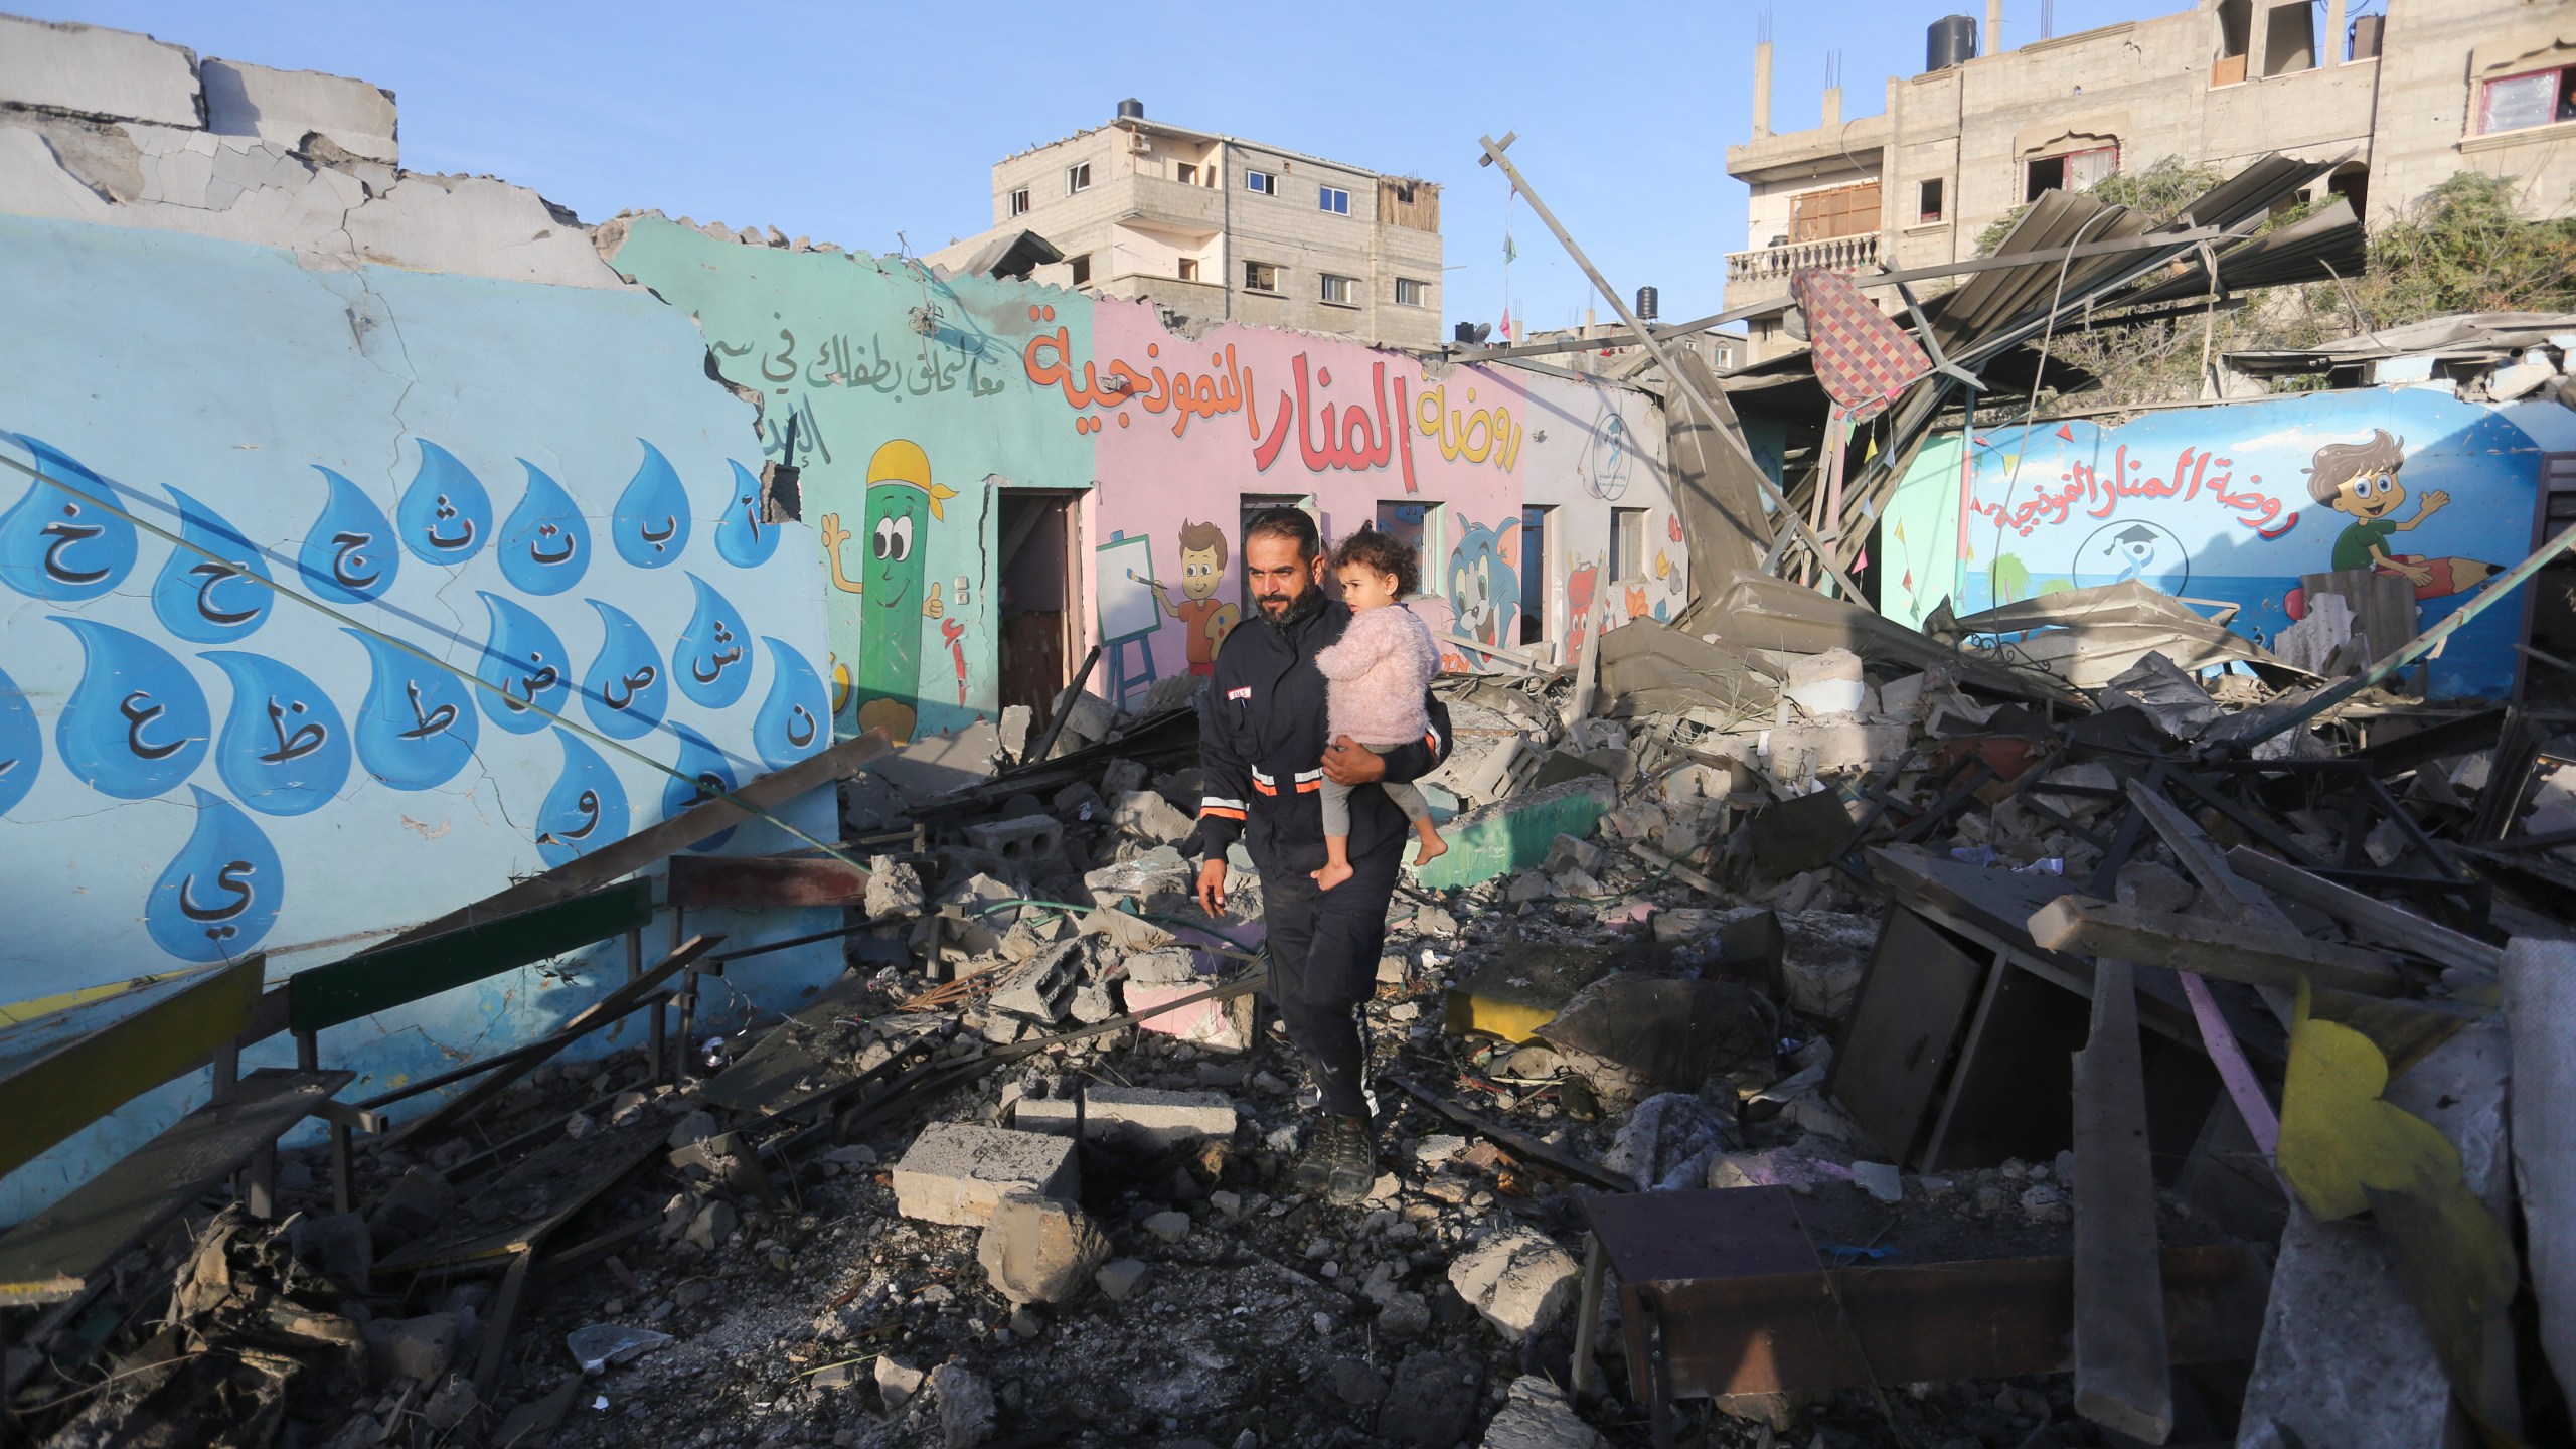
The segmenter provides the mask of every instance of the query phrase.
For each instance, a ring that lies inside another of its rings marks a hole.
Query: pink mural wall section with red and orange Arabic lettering
[[[1553,614],[1540,634],[1569,632],[1566,583],[1589,593],[1618,498],[1602,495],[1605,459],[1633,464],[1641,487],[1628,503],[1651,513],[1656,534],[1669,526],[1662,420],[1633,392],[1510,369],[1432,371],[1309,333],[1216,327],[1190,340],[1149,304],[1121,302],[1092,307],[1090,358],[1041,325],[1023,364],[1064,407],[1061,425],[1095,446],[1087,598],[1105,650],[1095,686],[1113,699],[1206,673],[1244,616],[1242,521],[1262,505],[1311,508],[1327,544],[1368,526],[1419,539],[1414,611],[1435,632],[1499,647],[1522,642],[1533,562],[1556,575],[1533,590]],[[1522,539],[1530,503],[1574,505],[1556,508],[1561,536],[1540,554]],[[1687,572],[1680,544],[1656,539],[1654,554],[1667,578]],[[1481,663],[1476,650],[1443,650],[1450,668]]]

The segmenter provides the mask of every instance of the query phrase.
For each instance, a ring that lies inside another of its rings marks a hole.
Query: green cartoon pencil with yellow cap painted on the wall
[[[822,516],[822,552],[832,562],[832,588],[860,596],[858,727],[884,727],[894,743],[912,740],[922,696],[922,619],[940,619],[940,585],[930,580],[930,521],[945,518],[953,487],[930,482],[930,456],[920,443],[894,438],[868,459],[868,559],[853,580],[840,562],[850,531],[840,513]]]

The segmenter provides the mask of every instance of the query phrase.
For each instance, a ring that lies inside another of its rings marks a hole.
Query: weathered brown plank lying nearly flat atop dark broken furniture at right
[[[2030,938],[2050,951],[2120,957],[2148,967],[2200,972],[2221,980],[2298,990],[2298,982],[2398,995],[2406,977],[2385,957],[2360,946],[2259,931],[2233,920],[2172,915],[2112,905],[2089,895],[2061,895],[2030,915]]]

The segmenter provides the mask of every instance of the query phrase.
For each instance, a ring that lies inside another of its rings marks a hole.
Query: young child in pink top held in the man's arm
[[[1422,691],[1440,670],[1440,650],[1432,632],[1414,619],[1412,608],[1396,601],[1422,580],[1422,562],[1412,544],[1401,544],[1376,529],[1363,529],[1332,552],[1332,570],[1342,580],[1342,603],[1350,606],[1350,627],[1342,639],[1314,655],[1314,668],[1332,681],[1327,699],[1329,735],[1350,735],[1358,745],[1386,753],[1430,730],[1422,714]],[[1355,786],[1324,779],[1324,869],[1314,882],[1332,890],[1352,877],[1350,869],[1350,792]],[[1432,807],[1409,784],[1378,781],[1386,799],[1414,822],[1422,853],[1414,866],[1448,851],[1432,830]]]

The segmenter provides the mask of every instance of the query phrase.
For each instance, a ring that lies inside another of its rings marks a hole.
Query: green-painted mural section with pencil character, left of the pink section
[[[1033,407],[1023,353],[1061,335],[1069,364],[1090,361],[1090,302],[665,217],[634,219],[608,260],[698,322],[716,374],[760,397],[765,462],[799,469],[829,578],[835,732],[904,740],[992,717],[994,485],[1092,485],[1092,438]]]

